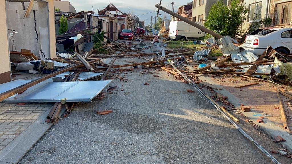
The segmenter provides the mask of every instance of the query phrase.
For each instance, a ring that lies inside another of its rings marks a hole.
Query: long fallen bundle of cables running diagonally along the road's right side
[[[151,50],[152,51],[152,50]],[[152,51],[153,52],[153,51]],[[157,55],[159,55],[157,53]],[[161,55],[159,55],[160,57],[163,57]],[[166,57],[163,57],[165,59],[167,59]],[[168,59],[167,59],[168,60]],[[200,88],[193,82],[191,81],[187,76],[183,75],[171,62],[169,62],[171,64],[171,66],[180,74],[183,76],[183,78],[185,78],[185,80],[187,80],[189,82],[190,85],[192,85],[198,92],[199,92],[199,96],[200,94],[203,95],[208,101],[210,102],[218,111],[220,111],[220,113],[227,118],[227,120],[232,123],[232,125],[237,128],[237,130],[244,135],[247,139],[249,139],[254,145],[256,145],[267,157],[269,157],[274,163],[276,164],[281,164],[276,158],[274,158],[269,152],[267,152],[267,150],[261,146],[260,144],[258,144],[253,138],[251,138],[244,130],[242,130],[236,123],[234,123],[234,121],[231,120],[231,118],[229,116],[227,116],[227,114],[225,114],[216,104],[214,104],[211,100],[209,100],[206,95],[200,90]],[[201,97],[201,96],[200,96]],[[204,99],[205,100],[205,99]]]

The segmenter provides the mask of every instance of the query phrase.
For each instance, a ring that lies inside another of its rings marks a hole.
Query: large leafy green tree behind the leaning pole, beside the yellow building
[[[240,0],[232,0],[230,6],[224,4],[223,1],[217,1],[211,6],[204,25],[222,36],[241,36],[239,27],[247,19],[247,12],[248,9]]]

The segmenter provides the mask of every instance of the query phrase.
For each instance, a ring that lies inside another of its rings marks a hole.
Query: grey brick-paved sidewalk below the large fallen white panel
[[[16,159],[17,154],[23,153],[20,156],[22,157],[27,150],[19,152],[13,152],[13,146],[19,144],[18,142],[25,142],[26,139],[29,141],[28,144],[24,145],[23,148],[28,146],[32,146],[37,140],[34,140],[34,137],[39,138],[40,134],[37,131],[46,131],[47,126],[44,129],[32,129],[33,131],[29,132],[29,136],[24,135],[21,136],[25,130],[28,130],[29,127],[32,126],[33,123],[44,123],[42,121],[43,118],[46,118],[47,113],[50,111],[52,104],[25,104],[25,105],[17,105],[17,104],[9,104],[9,103],[0,103],[0,163],[6,162],[3,160],[3,157],[11,152],[15,153],[15,161],[20,159]],[[44,123],[47,124],[47,123]],[[37,128],[37,127],[36,127]],[[21,137],[21,139],[17,139]],[[27,137],[24,139],[23,137]],[[22,143],[24,144],[24,143]],[[12,146],[13,145],[13,146]],[[28,149],[28,150],[29,150]],[[9,163],[14,163],[13,160],[9,161]]]

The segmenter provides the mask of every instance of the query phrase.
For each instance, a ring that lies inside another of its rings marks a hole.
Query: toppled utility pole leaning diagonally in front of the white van
[[[202,31],[204,31],[204,32],[206,32],[206,33],[212,35],[212,36],[215,36],[215,37],[218,38],[218,39],[223,38],[222,35],[220,35],[220,34],[214,32],[214,31],[212,31],[212,30],[210,30],[210,29],[207,29],[207,28],[204,27],[204,26],[199,25],[199,24],[196,23],[196,22],[193,22],[193,21],[191,21],[191,20],[188,20],[187,18],[185,18],[185,17],[183,17],[183,16],[180,16],[180,15],[178,15],[177,13],[174,13],[174,12],[170,11],[170,10],[168,10],[167,8],[164,8],[164,7],[160,6],[159,4],[156,4],[155,7],[156,7],[156,8],[159,8],[159,9],[162,10],[162,11],[165,11],[166,13],[168,13],[168,14],[170,14],[170,15],[172,15],[172,16],[174,16],[174,17],[176,17],[176,18],[178,18],[178,19],[180,19],[180,20],[182,20],[182,21],[184,21],[184,22],[186,22],[186,23],[188,23],[188,24],[194,26],[194,27],[197,27],[198,29],[200,29],[200,30],[202,30]]]

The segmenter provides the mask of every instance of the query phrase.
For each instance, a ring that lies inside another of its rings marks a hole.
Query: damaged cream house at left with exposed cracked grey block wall
[[[0,83],[5,83],[11,81],[11,51],[56,58],[54,0],[7,0],[0,1],[0,6]]]

